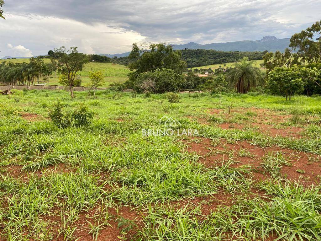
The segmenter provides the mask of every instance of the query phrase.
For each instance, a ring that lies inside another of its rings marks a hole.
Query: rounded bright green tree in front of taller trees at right
[[[276,67],[270,71],[266,87],[271,94],[282,95],[291,100],[293,94],[300,94],[306,82],[299,76],[296,67]]]

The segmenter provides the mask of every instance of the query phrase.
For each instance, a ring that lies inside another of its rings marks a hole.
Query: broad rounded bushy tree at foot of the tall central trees
[[[172,69],[156,69],[154,72],[144,72],[139,74],[134,84],[134,89],[142,92],[142,83],[146,80],[152,80],[153,87],[150,91],[153,93],[177,92],[183,84],[183,76],[175,73]]]

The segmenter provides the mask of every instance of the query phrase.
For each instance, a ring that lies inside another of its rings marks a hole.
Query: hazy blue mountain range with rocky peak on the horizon
[[[195,42],[189,42],[187,44],[173,44],[174,50],[182,49],[214,49],[218,51],[240,51],[240,52],[254,52],[254,51],[281,51],[288,48],[290,44],[290,38],[278,39],[275,36],[265,36],[261,40],[242,40],[235,42],[226,43],[210,43],[210,44],[200,44]],[[127,57],[129,52],[122,54],[101,54],[109,58],[113,57]]]

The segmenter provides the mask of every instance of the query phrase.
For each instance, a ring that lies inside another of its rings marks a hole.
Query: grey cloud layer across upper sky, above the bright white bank
[[[71,19],[92,28],[100,23],[123,32],[137,32],[147,40],[169,43],[256,40],[265,35],[291,37],[319,20],[320,7],[321,0],[5,0],[9,15]],[[313,15],[316,17],[311,18]]]

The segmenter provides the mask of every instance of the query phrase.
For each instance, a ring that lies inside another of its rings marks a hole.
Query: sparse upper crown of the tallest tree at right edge
[[[303,62],[321,62],[321,20],[306,30],[292,35],[290,47],[298,49],[298,55]]]

